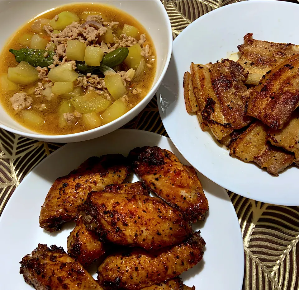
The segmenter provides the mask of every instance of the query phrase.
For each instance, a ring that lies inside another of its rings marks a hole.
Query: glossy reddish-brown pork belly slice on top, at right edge
[[[247,101],[247,115],[281,129],[299,105],[299,54],[277,65],[261,79]]]

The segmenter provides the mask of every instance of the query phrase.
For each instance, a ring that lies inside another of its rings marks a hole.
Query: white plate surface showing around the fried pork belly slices
[[[190,64],[215,63],[237,52],[246,33],[259,40],[299,44],[299,5],[284,1],[242,1],[201,16],[173,42],[173,53],[157,92],[164,127],[181,154],[203,175],[245,197],[274,204],[299,205],[298,167],[272,176],[256,164],[229,156],[211,133],[188,114],[183,76]]]

